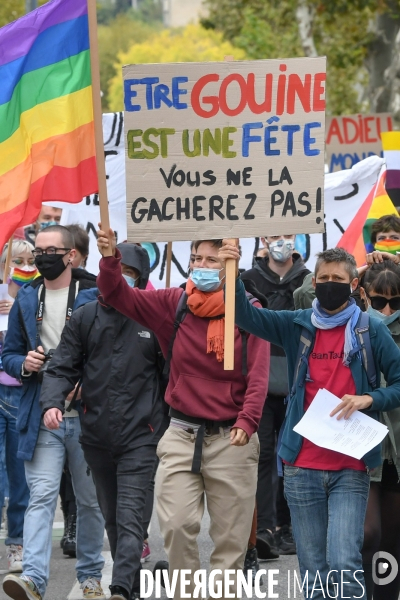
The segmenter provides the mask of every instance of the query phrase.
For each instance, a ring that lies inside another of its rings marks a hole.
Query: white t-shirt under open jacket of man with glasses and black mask
[[[39,298],[42,286],[39,287]],[[78,282],[76,283],[75,297],[78,293]],[[60,343],[61,334],[65,326],[65,317],[67,314],[69,286],[60,290],[49,290],[46,288],[44,300],[44,311],[42,321],[42,331],[40,339],[45,352],[55,350]],[[69,402],[65,402],[65,408]],[[64,414],[64,417],[78,417],[76,410],[71,410]]]

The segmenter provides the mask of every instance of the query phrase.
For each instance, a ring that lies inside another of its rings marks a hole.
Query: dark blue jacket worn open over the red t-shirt
[[[243,283],[240,279],[236,281],[236,325],[285,350],[290,388],[297,366],[296,358],[301,330],[306,327],[314,337],[316,334],[316,329],[311,323],[311,314],[312,309],[273,311],[255,308],[246,298]],[[400,406],[400,349],[393,341],[386,325],[373,317],[370,319],[369,333],[376,372],[383,374],[387,387],[377,387],[372,390],[365,369],[356,356],[350,363],[350,370],[356,394],[360,396],[369,394],[373,399],[371,407],[364,412],[379,420],[380,411],[388,411]],[[306,370],[306,368],[307,365],[303,363],[300,367],[298,381],[304,380],[304,372],[301,369]],[[379,385],[380,381],[378,381]],[[304,392],[304,385],[298,383],[294,394],[290,397],[283,424],[279,456],[291,464],[295,462],[303,443],[303,437],[293,431],[293,427],[304,415]],[[380,445],[368,452],[363,457],[363,461],[368,468],[380,465],[382,462]]]

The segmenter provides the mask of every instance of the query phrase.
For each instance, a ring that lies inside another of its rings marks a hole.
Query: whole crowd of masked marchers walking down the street
[[[196,240],[187,281],[162,290],[147,252],[116,245],[111,230],[98,232],[98,277],[88,273],[87,233],[60,218],[43,207],[1,255],[4,592],[45,597],[60,496],[83,598],[106,598],[105,529],[111,599],[139,599],[155,496],[170,573],[200,569],[206,508],[221,580],[297,554],[306,597],[398,600],[400,576],[381,586],[373,571],[379,552],[400,563],[400,218],[374,223],[377,249],[358,269],[335,248],[310,273],[295,236],[279,235],[261,238],[243,272],[236,244]],[[237,262],[232,371],[227,259]],[[364,411],[387,425],[384,442],[357,460],[296,433],[321,388],[339,398],[332,418]]]

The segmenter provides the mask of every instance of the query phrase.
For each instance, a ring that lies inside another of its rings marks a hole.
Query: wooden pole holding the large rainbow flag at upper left
[[[96,147],[97,177],[99,181],[100,220],[103,231],[105,231],[108,234],[108,230],[110,229],[110,215],[108,212],[106,165],[104,158],[103,117],[101,110],[100,95],[99,50],[97,43],[96,0],[87,0],[87,3],[89,18],[90,67],[92,70],[94,136]],[[112,256],[111,245],[104,252],[104,254],[105,256]]]

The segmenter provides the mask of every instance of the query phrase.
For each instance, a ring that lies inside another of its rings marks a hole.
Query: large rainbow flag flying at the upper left
[[[86,0],[0,29],[0,250],[43,201],[98,190]]]

